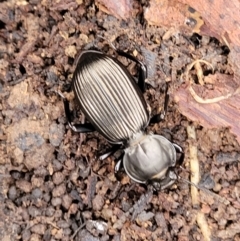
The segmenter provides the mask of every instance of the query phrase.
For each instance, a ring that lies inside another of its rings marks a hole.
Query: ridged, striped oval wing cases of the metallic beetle
[[[147,127],[143,95],[116,59],[97,51],[82,53],[72,84],[81,110],[109,142],[124,143]]]

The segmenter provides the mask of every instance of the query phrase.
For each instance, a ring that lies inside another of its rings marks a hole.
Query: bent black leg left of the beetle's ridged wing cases
[[[85,124],[72,124],[71,123],[71,111],[69,108],[69,101],[65,98],[65,96],[59,91],[57,92],[61,98],[63,99],[63,104],[64,104],[64,110],[65,110],[65,115],[68,121],[69,127],[79,133],[87,133],[87,132],[93,132],[95,131],[94,126],[91,123],[85,123]]]

